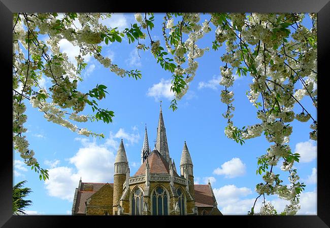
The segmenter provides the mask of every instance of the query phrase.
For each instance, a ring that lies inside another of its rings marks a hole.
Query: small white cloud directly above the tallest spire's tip
[[[171,91],[171,85],[171,80],[165,81],[161,79],[159,83],[154,84],[148,89],[147,96],[154,97],[155,101],[158,101],[161,97],[172,100],[174,98],[174,92]]]

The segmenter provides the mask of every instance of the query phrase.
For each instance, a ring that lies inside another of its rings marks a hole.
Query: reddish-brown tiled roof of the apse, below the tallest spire
[[[146,174],[146,161],[143,162],[134,176]],[[148,162],[150,173],[170,174],[170,164],[164,159],[164,157],[161,156],[161,154],[159,154],[157,150],[152,150],[148,157]],[[174,171],[174,176],[179,176],[176,171]]]

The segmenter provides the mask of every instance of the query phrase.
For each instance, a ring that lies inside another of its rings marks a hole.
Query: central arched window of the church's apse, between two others
[[[158,186],[152,194],[152,215],[168,214],[168,195],[163,187]]]

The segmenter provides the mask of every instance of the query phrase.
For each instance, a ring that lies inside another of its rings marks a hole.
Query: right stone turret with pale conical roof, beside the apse
[[[194,191],[194,183],[193,183],[193,165],[186,141],[184,141],[184,145],[182,149],[182,155],[180,161],[180,174],[181,176],[184,176],[186,179],[188,179],[189,193],[191,194],[192,197],[194,197],[195,191]]]

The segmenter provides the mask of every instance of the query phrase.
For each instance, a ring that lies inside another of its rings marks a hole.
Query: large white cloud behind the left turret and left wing
[[[90,142],[87,138],[75,138],[81,142],[82,147],[68,159],[73,167],[58,166],[58,160],[46,160],[45,164],[51,167],[48,169],[49,179],[45,181],[48,195],[72,202],[80,177],[83,182],[112,182],[119,146],[117,138],[124,138],[133,144],[139,140],[140,135],[127,133],[120,128],[116,134],[110,132],[104,144],[97,144],[95,140]]]

